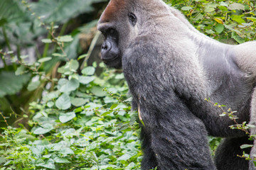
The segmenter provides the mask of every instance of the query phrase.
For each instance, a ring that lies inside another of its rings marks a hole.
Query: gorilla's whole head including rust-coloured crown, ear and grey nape
[[[155,14],[145,4],[157,6],[159,10],[166,8],[166,6],[159,6],[162,4],[161,1],[112,0],[102,13],[97,28],[104,35],[101,57],[108,66],[122,67],[122,55],[129,43],[137,37],[139,26]]]

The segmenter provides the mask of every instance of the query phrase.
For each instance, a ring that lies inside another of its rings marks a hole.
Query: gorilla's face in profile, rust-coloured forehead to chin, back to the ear
[[[102,61],[117,69],[122,68],[122,55],[137,35],[137,16],[134,14],[134,8],[129,6],[131,5],[127,5],[127,1],[110,1],[97,26],[104,35]]]

